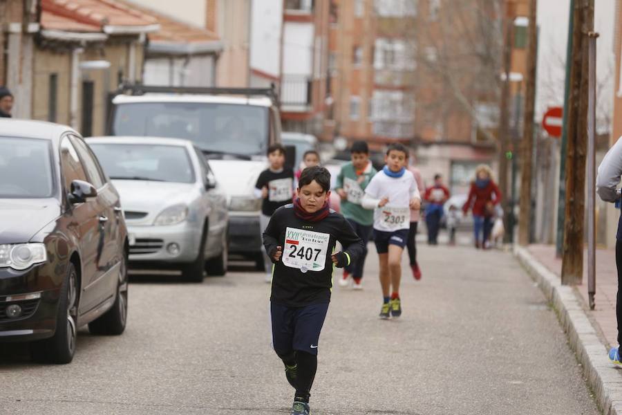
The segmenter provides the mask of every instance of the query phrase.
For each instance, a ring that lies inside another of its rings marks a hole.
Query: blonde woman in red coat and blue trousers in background
[[[475,181],[471,183],[469,197],[462,207],[464,214],[473,212],[473,233],[475,248],[488,248],[488,240],[492,229],[492,217],[495,206],[501,201],[501,192],[492,179],[492,171],[487,165],[479,165],[475,169]],[[482,239],[480,239],[480,234]]]

